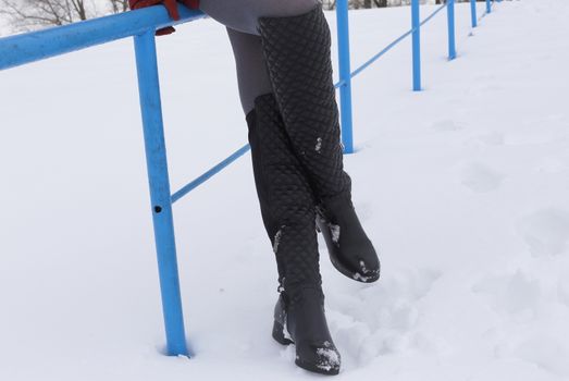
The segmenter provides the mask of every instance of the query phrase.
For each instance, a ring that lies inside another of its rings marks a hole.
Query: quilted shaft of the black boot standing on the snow
[[[274,96],[257,98],[249,116],[249,143],[263,222],[275,250],[281,284],[294,298],[301,287],[321,284],[312,190],[292,152]]]

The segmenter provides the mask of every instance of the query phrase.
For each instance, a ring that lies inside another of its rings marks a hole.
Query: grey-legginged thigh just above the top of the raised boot
[[[234,30],[259,35],[259,17],[294,16],[318,3],[318,0],[200,0],[199,8]]]

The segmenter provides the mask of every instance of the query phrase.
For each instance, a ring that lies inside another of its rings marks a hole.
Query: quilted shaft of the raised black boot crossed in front
[[[332,82],[331,36],[321,7],[259,20],[263,52],[294,152],[319,199],[349,195]]]

